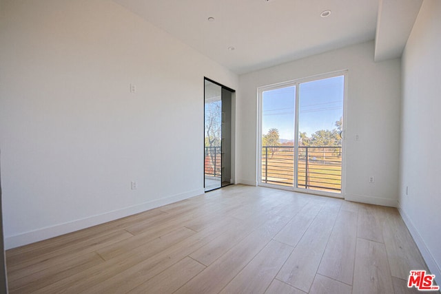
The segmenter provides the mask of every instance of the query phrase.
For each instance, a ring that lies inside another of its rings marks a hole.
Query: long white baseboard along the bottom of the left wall
[[[166,204],[173,202],[178,202],[198,196],[204,193],[204,189],[196,189],[193,191],[187,191],[185,193],[180,193],[173,196],[167,196],[165,198],[156,199],[152,201],[143,202],[141,204],[136,204],[132,207],[125,207],[123,209],[118,209],[114,211],[109,211],[106,213],[101,213],[96,216],[90,216],[88,218],[82,218],[79,220],[72,220],[72,222],[65,222],[62,224],[55,224],[51,227],[45,227],[37,229],[34,231],[28,231],[26,233],[21,233],[18,235],[5,236],[5,249],[12,249],[18,246],[23,246],[26,244],[38,242],[41,240],[46,240],[49,238],[57,237],[65,233],[72,233],[73,231],[78,231],[88,227],[95,226],[96,224],[103,224],[104,222],[110,222],[111,220],[117,220],[119,218],[124,218],[126,216],[132,216],[136,213],[154,209],[156,207],[161,207]]]

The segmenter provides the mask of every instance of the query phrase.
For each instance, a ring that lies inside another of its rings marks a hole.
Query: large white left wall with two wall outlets
[[[236,74],[105,0],[3,1],[0,64],[7,248],[203,193],[203,78]]]

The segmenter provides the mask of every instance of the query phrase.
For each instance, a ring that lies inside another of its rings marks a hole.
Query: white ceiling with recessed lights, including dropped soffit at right
[[[376,39],[376,30],[378,35],[383,27],[387,33],[377,43],[382,41],[385,45],[376,45],[376,54],[387,51],[382,59],[398,57],[415,18],[404,19],[407,32],[391,41],[387,34],[390,28],[393,32],[400,30],[402,19],[396,21],[390,8],[397,6],[402,11],[411,6],[410,14],[416,17],[419,6],[415,12],[416,5],[412,3],[422,0],[380,0],[382,5],[379,0],[114,1],[210,59],[243,74]],[[402,1],[407,6],[403,7]],[[379,6],[388,9],[382,12]],[[324,10],[331,10],[331,15],[320,17]],[[381,25],[377,24],[378,15]],[[209,17],[214,17],[214,21],[208,21]]]

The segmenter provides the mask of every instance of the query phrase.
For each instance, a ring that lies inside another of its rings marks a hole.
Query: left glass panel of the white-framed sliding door
[[[262,92],[260,183],[294,187],[296,86]]]

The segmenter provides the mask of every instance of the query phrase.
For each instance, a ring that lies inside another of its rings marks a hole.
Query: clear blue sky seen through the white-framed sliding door
[[[343,76],[300,84],[298,128],[308,136],[320,129],[336,128],[343,114]],[[263,92],[262,132],[276,128],[280,139],[294,140],[296,87]]]

